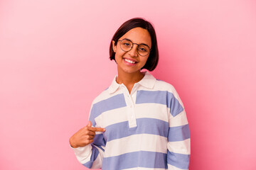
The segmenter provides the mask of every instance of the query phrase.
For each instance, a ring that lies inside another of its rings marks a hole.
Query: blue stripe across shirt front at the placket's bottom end
[[[152,118],[137,119],[137,127],[129,128],[128,121],[105,127],[104,132],[107,142],[136,134],[153,134],[163,137],[168,136],[169,123]]]

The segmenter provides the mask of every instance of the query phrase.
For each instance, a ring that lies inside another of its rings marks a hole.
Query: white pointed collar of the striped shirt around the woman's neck
[[[154,78],[154,76],[152,76],[149,72],[144,72],[144,73],[145,73],[145,76],[139,82],[137,82],[137,84],[140,84],[148,89],[153,89],[154,84],[156,83],[156,78]],[[116,79],[117,79],[117,76],[114,77],[112,84],[107,89],[110,94],[114,93],[114,91],[117,91],[119,86],[121,86],[121,84],[117,83]]]

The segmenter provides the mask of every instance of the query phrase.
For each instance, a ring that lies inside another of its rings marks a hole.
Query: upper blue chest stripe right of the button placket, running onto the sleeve
[[[136,103],[163,104],[170,108],[170,113],[174,117],[183,111],[183,107],[178,102],[177,98],[169,91],[137,91]]]

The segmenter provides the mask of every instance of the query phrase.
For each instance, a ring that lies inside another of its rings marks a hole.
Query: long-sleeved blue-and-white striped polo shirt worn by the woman
[[[149,72],[134,84],[131,94],[116,77],[92,102],[89,120],[94,142],[73,148],[78,161],[89,169],[188,169],[188,120],[174,86]]]

